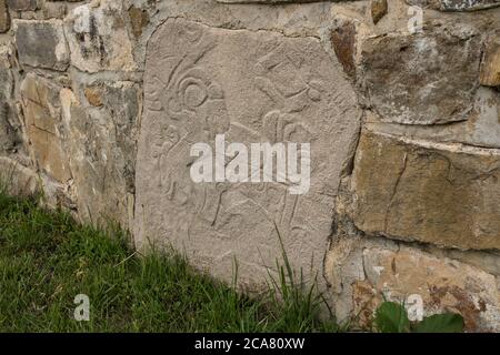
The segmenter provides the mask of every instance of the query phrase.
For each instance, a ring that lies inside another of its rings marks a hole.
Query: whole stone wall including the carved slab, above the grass
[[[500,331],[500,1],[0,0],[0,32],[12,193],[249,290],[281,240],[339,320]],[[217,134],[310,143],[309,192],[194,184]]]

